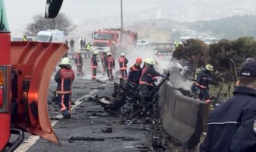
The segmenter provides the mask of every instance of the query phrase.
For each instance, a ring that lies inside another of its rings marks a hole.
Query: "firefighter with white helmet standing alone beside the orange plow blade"
[[[54,77],[57,82],[58,106],[64,119],[70,119],[72,82],[75,74],[70,66],[70,59],[63,58],[59,66],[60,70],[57,71]]]

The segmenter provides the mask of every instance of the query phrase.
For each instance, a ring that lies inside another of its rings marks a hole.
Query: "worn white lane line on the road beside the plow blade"
[[[106,84],[101,85],[100,87],[105,86]],[[80,103],[82,103],[80,100],[83,100],[83,98],[91,96],[93,93],[96,93],[99,90],[92,90],[89,92],[89,94],[84,95],[83,97],[80,97],[78,100],[76,100],[76,105],[72,106],[71,111],[76,108]],[[57,118],[62,118],[62,115],[57,115]],[[57,124],[59,120],[55,120],[51,122],[51,125],[54,126]],[[31,147],[33,144],[35,144],[40,139],[40,136],[38,135],[31,135],[26,140],[23,141],[23,143],[15,150],[15,152],[24,152],[28,150],[29,147]]]

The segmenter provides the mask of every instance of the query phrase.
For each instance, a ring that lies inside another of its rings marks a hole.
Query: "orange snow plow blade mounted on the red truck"
[[[18,106],[12,122],[58,145],[60,142],[50,124],[47,92],[51,75],[67,50],[63,43],[11,42],[11,65],[13,74],[17,75],[16,83],[12,82],[17,84],[12,103]]]

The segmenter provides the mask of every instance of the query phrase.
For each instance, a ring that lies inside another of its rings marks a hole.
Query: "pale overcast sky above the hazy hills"
[[[45,2],[46,0],[5,0],[11,34],[21,35],[35,14],[44,14]],[[90,21],[102,27],[112,26],[110,21],[116,22],[116,27],[120,25],[120,0],[64,0],[60,11],[78,27],[83,27],[83,24]],[[168,17],[177,21],[196,21],[237,14],[256,15],[256,1],[123,0],[125,25],[151,18]]]

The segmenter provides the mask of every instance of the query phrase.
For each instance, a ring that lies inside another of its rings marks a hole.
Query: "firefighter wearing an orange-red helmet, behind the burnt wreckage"
[[[129,69],[128,82],[134,87],[138,87],[141,78],[141,63],[142,59],[137,58],[136,63]]]

